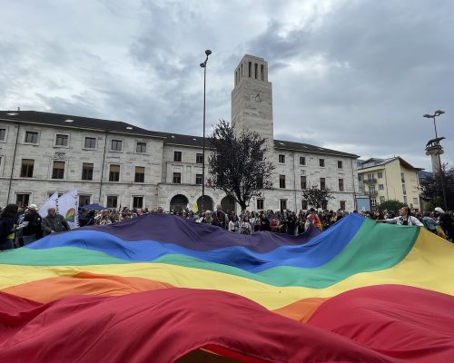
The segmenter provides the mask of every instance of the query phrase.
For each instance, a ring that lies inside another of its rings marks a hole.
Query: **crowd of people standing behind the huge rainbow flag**
[[[131,218],[139,218],[149,213],[164,213],[162,207],[153,211],[147,209],[123,208],[121,211],[105,209],[102,211],[79,210],[78,221],[81,227],[87,225],[106,225]],[[212,224],[233,233],[251,234],[258,231],[271,231],[291,235],[301,234],[313,225],[320,231],[326,231],[331,225],[346,216],[346,211],[244,211],[237,214],[234,211],[222,211],[218,205],[216,211],[181,210],[170,211],[174,215],[190,221]],[[417,225],[450,240],[454,239],[454,216],[452,211],[435,208],[434,211],[422,213],[402,207],[400,211],[353,211],[365,218],[378,222],[400,225]],[[35,204],[19,207],[8,204],[0,209],[0,250],[11,250],[25,246],[40,238],[60,231],[69,231],[70,226],[64,217],[57,214],[54,208],[49,208],[47,215],[42,218]]]

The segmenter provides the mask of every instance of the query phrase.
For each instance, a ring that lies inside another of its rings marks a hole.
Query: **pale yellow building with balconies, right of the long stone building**
[[[416,211],[421,210],[418,172],[400,157],[369,159],[359,162],[360,191],[370,197],[370,207],[375,209],[384,201],[400,201]]]

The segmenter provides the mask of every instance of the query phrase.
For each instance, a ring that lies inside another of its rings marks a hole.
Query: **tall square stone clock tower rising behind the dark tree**
[[[268,63],[246,54],[235,68],[232,90],[232,126],[237,132],[249,129],[268,141],[273,152],[272,89],[268,82]]]

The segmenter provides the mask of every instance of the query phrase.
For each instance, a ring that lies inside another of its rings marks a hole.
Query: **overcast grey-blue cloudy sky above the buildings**
[[[233,71],[265,58],[275,138],[430,170],[454,166],[450,0],[0,0],[0,109],[202,135],[231,118]]]

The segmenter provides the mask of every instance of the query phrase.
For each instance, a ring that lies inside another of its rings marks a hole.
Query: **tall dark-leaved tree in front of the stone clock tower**
[[[252,197],[261,197],[264,189],[271,189],[274,166],[266,160],[266,139],[258,132],[235,134],[224,120],[218,123],[211,137],[209,171],[213,188],[232,197],[244,211]]]

